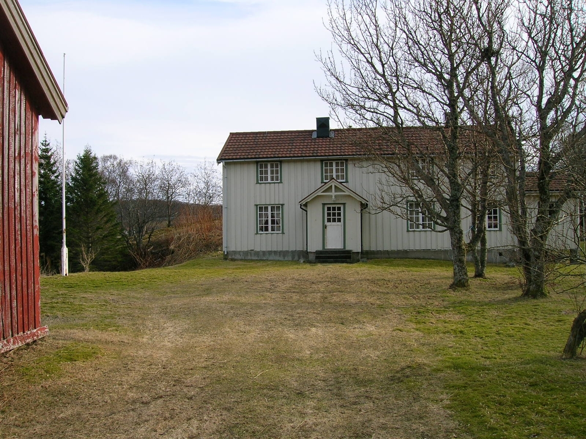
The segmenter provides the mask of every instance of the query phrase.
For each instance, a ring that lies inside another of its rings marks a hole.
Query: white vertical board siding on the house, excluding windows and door
[[[317,196],[308,203],[308,214],[299,208],[299,201],[321,187],[320,159],[281,161],[282,183],[257,183],[257,162],[227,162],[223,170],[224,190],[224,251],[315,251],[323,248],[322,204],[327,196]],[[360,251],[448,250],[449,232],[407,231],[407,220],[391,212],[376,212],[379,180],[384,174],[373,173],[360,159],[349,159],[347,182],[351,190],[369,201],[369,209],[362,213],[360,203],[353,197],[336,196],[336,203],[346,203],[346,248]],[[343,199],[343,201],[342,201]],[[330,201],[331,203],[331,198]],[[282,234],[257,234],[256,205],[282,205]],[[405,206],[405,209],[407,205]],[[572,204],[568,212],[575,211]],[[469,239],[471,218],[462,209],[462,227]],[[309,219],[310,224],[306,224]],[[511,248],[515,238],[510,232],[505,210],[500,215],[499,231],[488,231],[489,248]],[[362,227],[362,230],[360,229]],[[309,236],[306,236],[309,231]],[[565,246],[574,241],[571,215],[560,219],[550,238]]]

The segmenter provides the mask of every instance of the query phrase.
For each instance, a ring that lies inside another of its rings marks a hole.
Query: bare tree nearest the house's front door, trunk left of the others
[[[471,132],[463,94],[478,92],[481,61],[469,44],[475,12],[466,0],[334,0],[328,26],[341,61],[332,52],[318,57],[328,81],[318,93],[340,123],[377,126],[396,149],[366,151],[389,176],[381,179],[379,208],[404,216],[414,199],[437,231],[449,233],[453,287],[468,286],[462,170]],[[439,146],[422,143],[409,126],[432,132]]]

